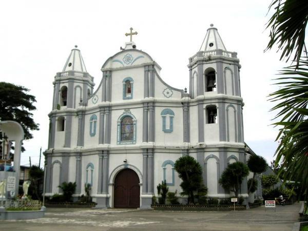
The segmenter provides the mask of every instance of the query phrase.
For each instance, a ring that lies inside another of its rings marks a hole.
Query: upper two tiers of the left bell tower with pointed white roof
[[[84,120],[83,106],[87,106],[94,86],[77,46],[71,50],[63,70],[54,76],[53,86],[48,147],[77,146],[72,144],[72,118],[78,114],[78,118]]]

